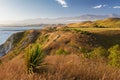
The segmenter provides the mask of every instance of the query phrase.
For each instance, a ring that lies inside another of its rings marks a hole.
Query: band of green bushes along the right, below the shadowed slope
[[[95,48],[91,52],[86,52],[86,50],[84,50],[83,54],[89,59],[103,58],[104,61],[108,62],[108,64],[112,65],[113,67],[120,68],[120,45],[110,47],[108,50],[103,47]]]

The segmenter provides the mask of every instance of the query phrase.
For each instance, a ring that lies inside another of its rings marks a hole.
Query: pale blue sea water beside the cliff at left
[[[33,27],[0,27],[0,44],[3,44],[13,33],[30,29],[41,29],[42,26]]]

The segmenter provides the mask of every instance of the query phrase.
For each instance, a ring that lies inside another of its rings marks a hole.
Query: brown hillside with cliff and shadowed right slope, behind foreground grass
[[[89,28],[88,28],[89,29]],[[86,29],[87,30],[87,29]],[[67,53],[79,54],[81,49],[88,51],[102,46],[106,49],[120,44],[119,30],[82,31],[81,29],[70,29],[67,27],[53,27],[42,30],[28,30],[13,34],[3,45],[3,61],[8,61],[20,53],[24,53],[26,47],[32,43],[39,43],[46,54],[56,54],[59,49]]]

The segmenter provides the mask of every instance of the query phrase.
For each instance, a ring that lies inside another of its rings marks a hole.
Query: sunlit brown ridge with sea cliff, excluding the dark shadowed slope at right
[[[11,43],[12,42],[12,43]],[[23,53],[25,48],[32,43],[39,43],[47,54],[55,54],[57,50],[64,49],[67,53],[79,53],[80,48],[93,49],[98,46],[95,37],[89,32],[75,31],[69,29],[43,29],[29,30],[13,34],[5,44],[1,45],[0,52],[5,54],[2,60],[14,58]],[[7,48],[11,45],[11,49]]]

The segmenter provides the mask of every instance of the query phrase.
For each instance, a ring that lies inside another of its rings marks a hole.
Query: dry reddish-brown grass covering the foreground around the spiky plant
[[[20,56],[0,65],[0,80],[119,80],[120,69],[107,66],[102,60],[82,56],[47,56],[41,72],[28,75]]]

